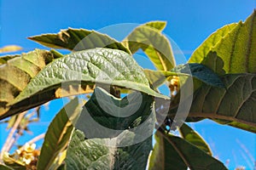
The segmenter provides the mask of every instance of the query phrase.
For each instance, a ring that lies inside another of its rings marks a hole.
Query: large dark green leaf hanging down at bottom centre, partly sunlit
[[[76,122],[78,129],[67,149],[67,169],[145,169],[155,119],[153,98],[143,94],[139,103],[139,95],[117,99],[102,88],[95,89]],[[148,136],[140,140],[143,135]]]

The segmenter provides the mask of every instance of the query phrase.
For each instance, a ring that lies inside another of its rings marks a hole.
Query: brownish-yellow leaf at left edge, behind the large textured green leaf
[[[53,54],[39,49],[20,56],[0,58],[5,64],[0,67],[0,117],[9,111],[8,104],[26,88],[31,78],[54,58]]]

